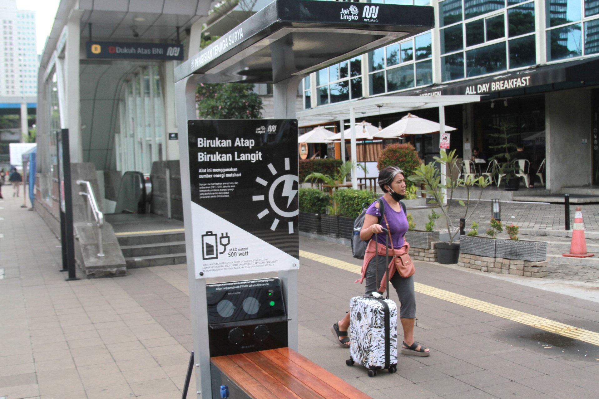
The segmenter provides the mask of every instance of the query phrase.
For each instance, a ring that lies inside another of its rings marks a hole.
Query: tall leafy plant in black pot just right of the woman
[[[440,205],[439,209],[441,209],[441,213],[445,219],[449,242],[439,242],[435,248],[437,248],[439,263],[444,264],[458,263],[459,258],[459,244],[453,243],[453,239],[459,233],[459,225],[449,216],[449,210],[451,206],[453,206],[453,191],[458,187],[464,187],[466,189],[466,200],[459,200],[458,203],[459,205],[464,206],[464,218],[467,220],[468,216],[471,216],[474,211],[476,211],[483,190],[489,185],[489,179],[485,177],[476,179],[472,178],[472,176],[467,176],[466,178],[455,177],[457,176],[457,173],[453,173],[454,168],[458,167],[456,165],[456,160],[455,150],[450,151],[449,153],[441,150],[439,156],[435,157],[434,163],[446,167],[446,176],[441,178],[441,172],[435,165],[433,165],[433,163],[429,163],[428,165],[420,165],[420,167],[415,170],[415,175],[409,176],[408,178],[416,184],[424,184],[425,192],[431,197],[431,202]],[[476,206],[474,206],[474,209],[471,209],[470,189],[475,186],[480,187],[481,190],[479,197],[476,200]],[[447,206],[444,206],[446,199]]]

